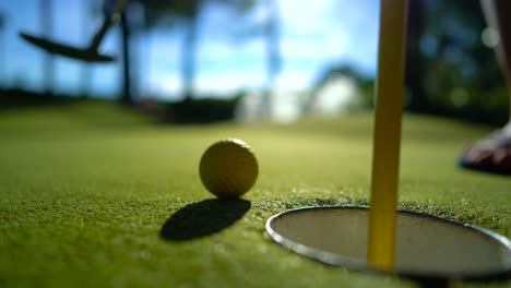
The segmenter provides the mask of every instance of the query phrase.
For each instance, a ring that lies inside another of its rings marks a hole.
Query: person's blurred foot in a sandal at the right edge
[[[465,148],[460,166],[467,169],[511,175],[511,124]]]

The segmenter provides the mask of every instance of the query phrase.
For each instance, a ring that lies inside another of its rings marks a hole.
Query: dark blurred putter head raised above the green
[[[36,37],[26,33],[21,32],[20,36],[28,43],[41,48],[49,53],[56,53],[71,59],[84,61],[84,62],[114,62],[116,57],[98,53],[96,49],[91,48],[76,48],[64,44],[55,43],[41,37]]]

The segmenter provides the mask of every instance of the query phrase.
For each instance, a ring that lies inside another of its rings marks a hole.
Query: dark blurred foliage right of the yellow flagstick
[[[495,124],[509,94],[478,1],[409,1],[407,109]]]

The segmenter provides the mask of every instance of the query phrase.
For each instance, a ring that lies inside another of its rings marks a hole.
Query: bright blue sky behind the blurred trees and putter
[[[92,16],[86,2],[91,0],[54,0],[52,38],[75,46],[85,46],[102,19]],[[20,31],[41,33],[38,16],[39,0],[0,1],[5,26],[0,37],[4,60],[0,67],[0,83],[12,86],[23,83],[40,88],[43,52],[24,43]],[[278,0],[282,14],[281,51],[283,70],[277,87],[288,91],[309,88],[330,64],[346,62],[361,72],[373,74],[378,40],[378,0]],[[263,5],[247,15],[251,22],[263,22],[268,15]],[[227,21],[218,9],[201,13],[198,50],[199,93],[233,93],[258,89],[265,83],[265,46],[262,37],[239,39],[233,35],[236,21]],[[118,28],[105,38],[102,51],[118,55]],[[136,37],[138,86],[144,94],[163,98],[178,95],[179,29],[155,29]],[[1,59],[1,58],[0,58]],[[57,91],[80,92],[81,73],[85,65],[56,58]],[[96,95],[115,94],[119,89],[119,64],[94,64],[92,91]]]

